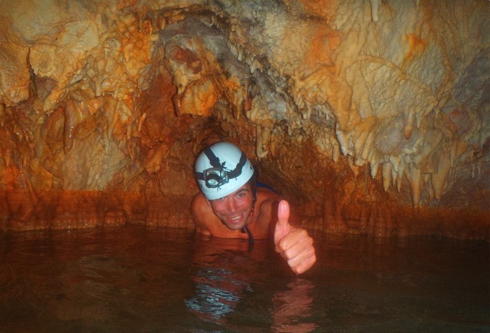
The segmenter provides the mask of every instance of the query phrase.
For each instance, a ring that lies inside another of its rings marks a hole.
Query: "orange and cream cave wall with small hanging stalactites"
[[[488,240],[490,3],[0,2],[0,229],[192,227],[247,153],[308,228]]]

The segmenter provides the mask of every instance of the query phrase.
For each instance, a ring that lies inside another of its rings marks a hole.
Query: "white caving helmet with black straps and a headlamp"
[[[247,156],[229,142],[209,146],[195,161],[195,178],[209,200],[235,192],[253,174],[254,168]]]

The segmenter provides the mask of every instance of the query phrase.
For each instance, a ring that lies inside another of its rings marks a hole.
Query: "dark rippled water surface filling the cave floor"
[[[490,331],[488,243],[314,237],[297,277],[268,241],[0,234],[0,332]]]

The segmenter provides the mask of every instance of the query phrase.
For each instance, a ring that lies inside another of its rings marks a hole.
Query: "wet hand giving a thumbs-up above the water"
[[[287,260],[293,272],[301,274],[316,261],[313,239],[305,229],[289,224],[289,204],[286,200],[279,202],[277,218],[274,230],[276,252]]]

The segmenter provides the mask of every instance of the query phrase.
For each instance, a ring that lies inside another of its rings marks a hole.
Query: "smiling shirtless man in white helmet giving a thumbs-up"
[[[289,204],[257,176],[245,154],[229,142],[206,148],[195,163],[201,187],[192,200],[195,230],[226,238],[274,237],[276,251],[301,274],[316,261],[313,239],[290,214]]]

